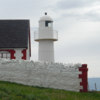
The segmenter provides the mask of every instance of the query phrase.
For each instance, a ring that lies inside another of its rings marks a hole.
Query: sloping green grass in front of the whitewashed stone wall
[[[100,100],[100,92],[79,93],[0,81],[0,100]]]

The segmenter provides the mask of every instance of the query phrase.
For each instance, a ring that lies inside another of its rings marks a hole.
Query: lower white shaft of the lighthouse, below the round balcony
[[[54,43],[52,40],[39,41],[39,61],[54,62]]]

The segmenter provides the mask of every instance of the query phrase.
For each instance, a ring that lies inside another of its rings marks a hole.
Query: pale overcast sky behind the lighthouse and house
[[[0,19],[30,19],[32,60],[38,59],[34,31],[48,12],[59,41],[55,61],[86,63],[89,77],[100,77],[100,0],[0,0]]]

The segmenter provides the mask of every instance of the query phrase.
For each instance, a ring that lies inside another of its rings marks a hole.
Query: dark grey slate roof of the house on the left
[[[28,48],[29,20],[0,20],[0,48]]]

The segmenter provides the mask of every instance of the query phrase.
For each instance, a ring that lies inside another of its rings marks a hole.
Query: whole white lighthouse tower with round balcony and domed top
[[[53,30],[53,20],[47,13],[40,18],[39,29],[34,37],[39,42],[38,60],[54,62],[54,41],[58,40],[58,34]]]

